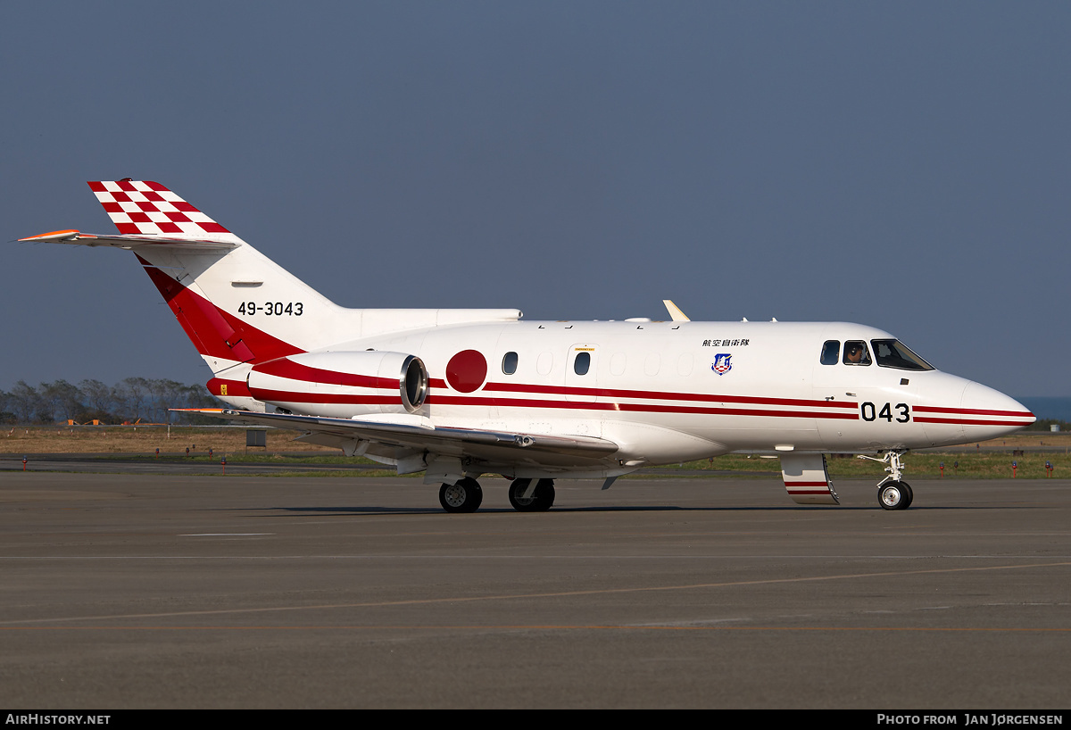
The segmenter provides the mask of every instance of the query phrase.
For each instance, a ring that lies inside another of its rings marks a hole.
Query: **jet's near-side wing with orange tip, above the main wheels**
[[[381,420],[375,416],[327,419],[317,415],[258,413],[225,408],[175,410],[201,413],[248,425],[274,426],[308,434],[322,434],[337,439],[369,441],[448,455],[485,456],[489,455],[488,452],[494,452],[500,458],[502,456],[501,450],[504,448],[516,452],[524,450],[526,452],[598,459],[613,454],[618,448],[613,441],[590,436],[546,436],[543,434],[433,426],[427,419],[420,416],[395,415]]]

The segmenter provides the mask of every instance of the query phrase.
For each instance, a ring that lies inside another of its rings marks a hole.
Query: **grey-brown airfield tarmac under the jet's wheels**
[[[0,473],[0,705],[1061,709],[1071,482]]]

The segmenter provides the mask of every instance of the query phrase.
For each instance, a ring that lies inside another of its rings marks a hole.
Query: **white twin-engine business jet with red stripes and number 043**
[[[349,309],[328,301],[154,182],[89,183],[119,234],[47,241],[133,250],[229,409],[201,412],[424,472],[447,512],[474,512],[501,474],[514,508],[554,480],[748,452],[778,456],[788,496],[838,504],[827,453],[887,465],[903,510],[909,448],[1034,423],[1012,398],[933,368],[848,322],[529,322],[517,309]]]

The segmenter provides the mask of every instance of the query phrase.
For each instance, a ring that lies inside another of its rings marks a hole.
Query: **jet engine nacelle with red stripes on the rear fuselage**
[[[404,352],[305,352],[254,365],[246,382],[281,411],[343,419],[414,413],[427,398],[427,368]]]

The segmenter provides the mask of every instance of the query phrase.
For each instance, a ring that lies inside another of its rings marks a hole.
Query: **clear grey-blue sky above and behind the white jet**
[[[847,320],[1068,396],[1067,3],[6,2],[0,387],[211,377],[87,180],[348,306]]]

